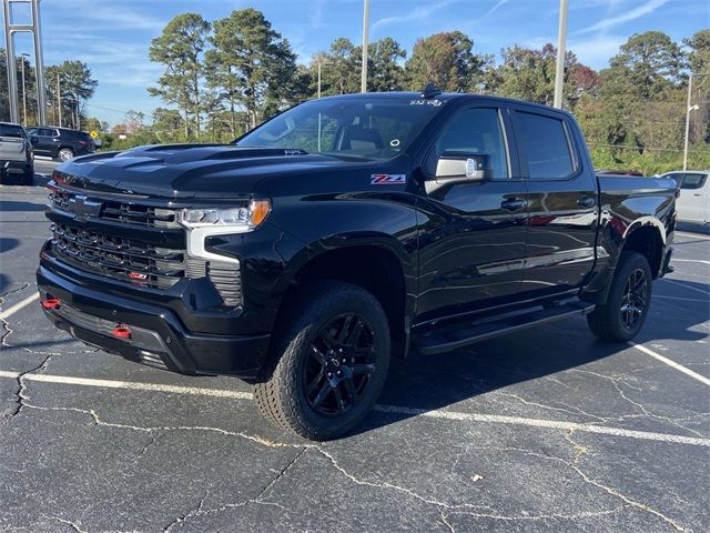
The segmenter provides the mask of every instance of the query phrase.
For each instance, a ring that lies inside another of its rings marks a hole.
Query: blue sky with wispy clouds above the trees
[[[556,42],[558,0],[371,0],[371,40],[390,36],[410,50],[419,37],[447,30],[469,34],[474,50],[498,54],[514,43]],[[42,0],[44,62],[80,59],[99,80],[88,113],[121,122],[129,109],[161,104],[145,90],[161,73],[148,60],[152,38],[185,11],[205,19],[233,9],[262,10],[301,62],[337,37],[362,40],[362,0]],[[568,47],[604,68],[633,33],[662,30],[680,41],[710,27],[709,0],[569,0]],[[29,40],[18,39],[18,52]]]

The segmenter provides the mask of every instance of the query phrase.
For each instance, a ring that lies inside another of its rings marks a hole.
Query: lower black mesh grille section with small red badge
[[[51,230],[52,245],[61,260],[90,272],[155,289],[174,285],[185,272],[182,250],[61,223],[52,224]]]

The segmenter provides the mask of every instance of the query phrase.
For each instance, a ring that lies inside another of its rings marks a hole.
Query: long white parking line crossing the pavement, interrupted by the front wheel
[[[0,371],[0,378],[18,379],[20,372]],[[128,389],[154,392],[169,392],[173,394],[192,394],[204,396],[231,398],[235,400],[252,400],[250,392],[225,391],[219,389],[205,389],[196,386],[163,385],[160,383],[139,383],[114,380],[94,380],[89,378],[74,378],[69,375],[51,374],[26,374],[24,381],[38,381],[44,383],[59,383],[64,385],[98,386],[108,389]],[[405,408],[400,405],[375,405],[375,411],[381,413],[404,414],[407,416],[424,416],[438,420],[453,420],[459,422],[484,422],[493,424],[525,425],[529,428],[541,428],[561,431],[580,431],[586,433],[597,433],[610,436],[625,436],[629,439],[640,439],[646,441],[670,442],[676,444],[690,444],[696,446],[710,447],[710,439],[696,436],[674,435],[669,433],[655,433],[649,431],[625,430],[621,428],[610,428],[596,424],[584,424],[578,422],[564,422],[557,420],[524,419],[520,416],[504,416],[498,414],[462,413],[448,410],[426,410]]]

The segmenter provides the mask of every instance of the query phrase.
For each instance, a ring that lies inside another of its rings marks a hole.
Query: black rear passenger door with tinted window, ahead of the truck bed
[[[572,290],[595,262],[597,178],[569,117],[519,107],[513,118],[529,210],[520,292],[534,299]]]

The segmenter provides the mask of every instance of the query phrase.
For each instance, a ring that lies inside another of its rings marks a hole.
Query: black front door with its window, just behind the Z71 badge
[[[490,178],[422,193],[419,320],[503,303],[523,280],[527,190],[508,150],[507,110],[470,107],[440,130],[425,159],[432,179],[447,151],[487,155]]]

